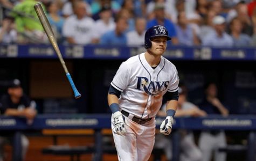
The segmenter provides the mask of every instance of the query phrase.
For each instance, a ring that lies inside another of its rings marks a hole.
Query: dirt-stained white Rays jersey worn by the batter
[[[152,118],[162,105],[162,96],[178,90],[179,77],[174,64],[161,56],[155,69],[145,53],[130,57],[120,65],[111,85],[121,91],[120,108],[139,118]]]

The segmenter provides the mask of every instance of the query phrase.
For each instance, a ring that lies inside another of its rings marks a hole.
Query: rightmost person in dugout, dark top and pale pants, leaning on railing
[[[217,98],[217,86],[215,83],[207,83],[205,85],[205,99],[199,105],[199,108],[204,110],[207,114],[221,114],[223,116],[229,115],[229,111],[220,103]],[[226,153],[219,152],[218,149],[226,147],[226,136],[223,130],[207,130],[202,131],[199,137],[199,148],[202,151],[202,161],[210,161],[212,151],[214,151],[215,161],[225,161]]]

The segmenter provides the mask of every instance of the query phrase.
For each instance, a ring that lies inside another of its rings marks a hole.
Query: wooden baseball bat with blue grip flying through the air
[[[50,42],[51,42],[55,52],[57,53],[57,55],[59,57],[60,63],[62,65],[63,69],[65,70],[67,79],[68,79],[68,81],[70,81],[70,85],[71,85],[71,87],[72,87],[72,89],[74,91],[75,98],[77,99],[77,98],[81,97],[81,94],[78,92],[77,87],[75,87],[75,84],[74,84],[74,82],[73,82],[73,80],[71,78],[71,75],[70,75],[70,73],[67,70],[66,64],[65,64],[65,62],[63,60],[63,57],[62,57],[62,55],[60,53],[60,49],[58,47],[58,43],[57,43],[56,39],[54,38],[54,34],[53,34],[53,31],[52,31],[51,25],[50,25],[48,19],[45,16],[45,13],[44,13],[44,10],[43,10],[41,4],[40,3],[34,4],[34,10],[36,10],[37,16],[38,16],[41,24],[44,27],[44,31],[47,34],[47,36],[48,36],[48,38],[49,38],[49,40],[50,40]]]

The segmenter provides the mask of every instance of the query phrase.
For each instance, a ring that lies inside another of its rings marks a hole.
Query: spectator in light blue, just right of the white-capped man
[[[238,18],[234,18],[230,23],[231,36],[233,38],[234,46],[249,46],[251,38],[247,34],[241,33],[243,24]]]

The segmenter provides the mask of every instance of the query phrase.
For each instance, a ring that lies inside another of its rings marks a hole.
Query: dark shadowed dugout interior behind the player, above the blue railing
[[[66,59],[82,98],[74,100],[57,58],[0,58],[0,95],[6,80],[19,78],[37,102],[39,113],[109,113],[107,91],[119,65],[125,59]],[[256,70],[254,61],[171,60],[189,99],[203,99],[204,83],[218,85],[219,98],[231,114],[256,114]]]

